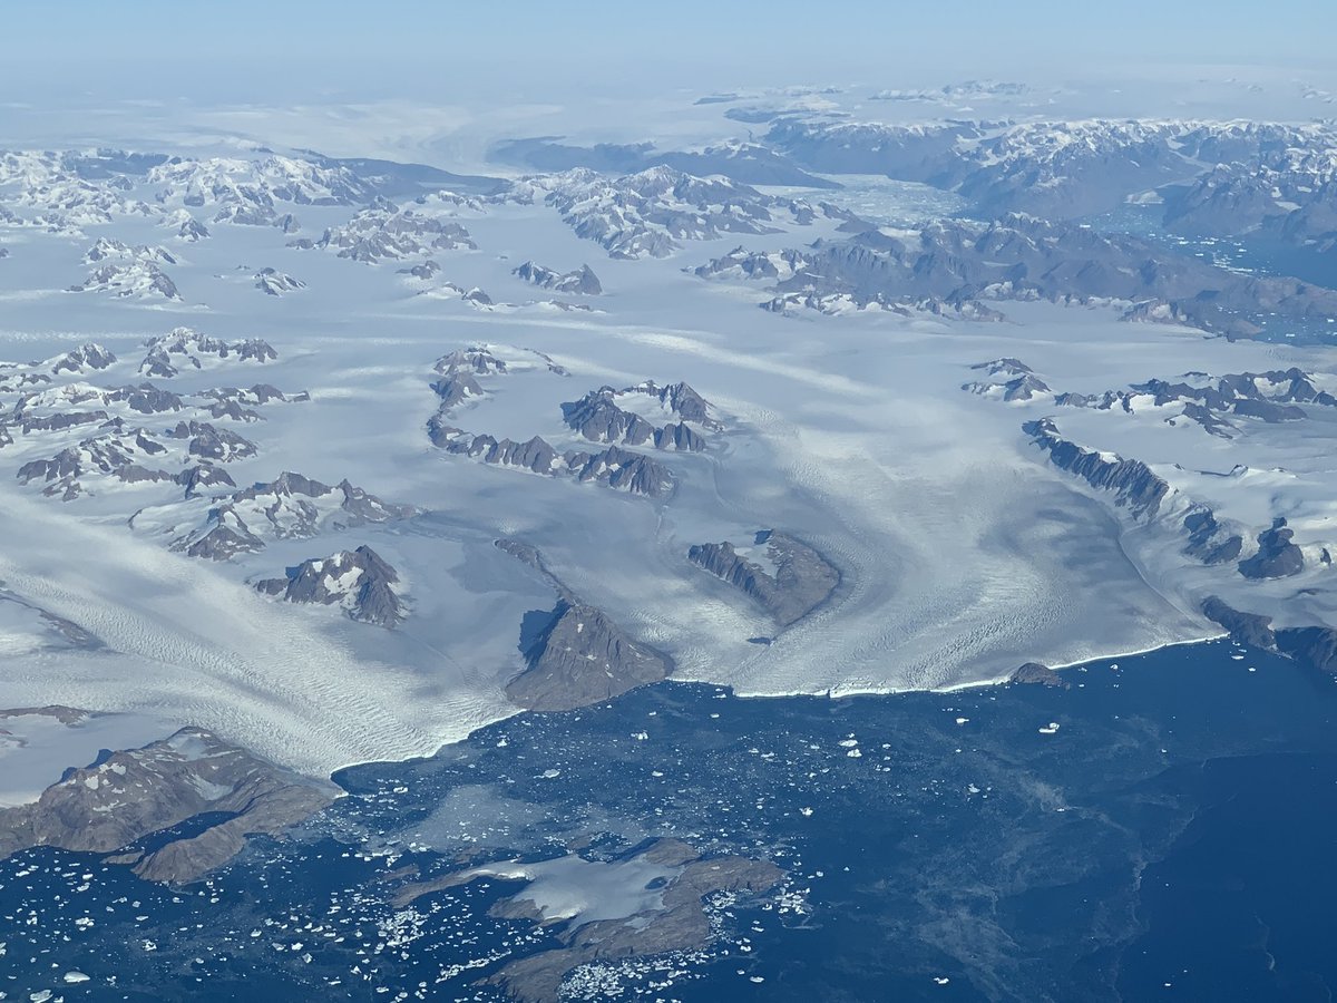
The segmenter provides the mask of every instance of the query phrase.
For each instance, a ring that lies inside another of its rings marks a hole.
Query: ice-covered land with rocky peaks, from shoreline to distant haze
[[[1157,189],[1320,246],[1326,127],[769,130],[511,182],[0,154],[3,702],[96,711],[0,742],[57,764],[13,828],[104,806],[90,742],[194,790],[143,826],[253,785],[270,830],[328,797],[298,776],[664,677],[952,687],[1223,630],[1330,663],[1337,357],[1250,336],[1337,293],[1072,222]],[[976,211],[877,226],[842,171]],[[182,752],[215,742],[245,769]]]

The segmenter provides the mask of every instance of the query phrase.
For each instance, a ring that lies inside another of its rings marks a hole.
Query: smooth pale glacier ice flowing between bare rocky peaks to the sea
[[[297,211],[308,234],[352,214]],[[1004,405],[960,386],[977,377],[973,364],[1000,356],[1075,391],[1186,369],[1332,362],[1320,349],[1207,341],[1083,308],[1007,305],[1005,324],[781,317],[757,308],[755,288],[683,273],[738,243],[810,239],[804,227],[690,242],[662,261],[608,259],[544,205],[491,206],[468,227],[479,250],[435,254],[441,280],[512,306],[414,296],[396,274],[402,262],[298,250],[274,227],[218,223],[214,237],[185,247],[168,269],[179,304],[56,292],[87,270],[80,255],[95,227],[80,239],[25,231],[11,242],[0,356],[48,357],[96,338],[122,362],[91,378],[122,385],[140,378],[139,342],[178,324],[263,337],[279,353],[274,362],[156,381],[178,393],[257,381],[310,392],[308,403],[265,405],[266,420],[237,425],[259,447],[229,464],[238,484],[285,469],[329,484],[348,477],[425,515],[271,543],[231,563],[193,560],[126,527],[135,510],[179,488],[91,479],[86,497],[43,497],[13,472],[66,440],[20,437],[0,453],[0,508],[21,527],[7,534],[0,579],[107,650],[5,658],[0,702],[150,711],[316,773],[431,753],[513,711],[503,686],[523,667],[520,621],[552,602],[547,584],[491,547],[496,536],[539,547],[582,599],[671,654],[682,678],[746,694],[951,687],[999,679],[1025,661],[1070,663],[1203,637],[1214,627],[1197,614],[1201,568],[1167,556],[1162,536],[1120,522],[1108,499],[1027,443],[1021,423],[1052,412],[1052,401]],[[132,243],[164,239],[152,221],[104,229]],[[511,274],[528,258],[562,270],[590,262],[606,289],[600,313],[536,305],[543,294]],[[306,288],[265,296],[245,281],[261,266]],[[489,377],[488,393],[456,416],[471,432],[588,448],[563,425],[560,403],[646,378],[686,380],[717,405],[723,428],[706,432],[703,455],[658,457],[678,479],[662,502],[447,456],[424,428],[439,404],[432,364],[477,341],[544,352],[570,376]],[[158,429],[179,420],[130,417]],[[1074,412],[1074,435],[1139,455],[1142,439],[1083,424],[1098,417]],[[1185,444],[1199,455],[1197,440]],[[1157,449],[1148,461],[1174,461]],[[1185,489],[1198,489],[1190,481]],[[1306,520],[1324,514],[1326,481],[1314,484]],[[1254,512],[1254,502],[1239,504],[1241,515]],[[842,574],[832,600],[769,647],[747,643],[769,627],[746,598],[686,560],[693,543],[762,528],[806,540]],[[246,584],[360,543],[410,583],[413,615],[392,634]]]

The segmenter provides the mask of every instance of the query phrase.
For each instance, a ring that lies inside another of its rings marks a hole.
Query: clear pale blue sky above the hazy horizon
[[[7,0],[24,100],[257,94],[409,96],[449,84],[616,91],[666,82],[882,86],[1143,66],[1330,67],[1332,0]],[[9,87],[9,82],[7,82]]]

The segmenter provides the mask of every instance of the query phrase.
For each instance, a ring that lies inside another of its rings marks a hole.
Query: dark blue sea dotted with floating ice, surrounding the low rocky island
[[[1230,642],[1063,675],[838,701],[670,683],[524,715],[342,773],[293,840],[186,888],[28,852],[0,863],[0,992],[504,999],[488,976],[562,925],[491,916],[516,881],[396,907],[404,881],[675,836],[786,879],[713,903],[701,951],[596,966],[570,998],[1330,999],[1333,679]]]

